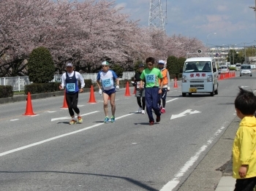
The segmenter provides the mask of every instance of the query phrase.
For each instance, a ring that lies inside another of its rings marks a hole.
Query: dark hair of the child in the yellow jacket
[[[244,90],[239,87],[240,92],[238,93],[235,100],[235,107],[239,109],[242,114],[255,114],[256,111],[256,96],[252,91]]]

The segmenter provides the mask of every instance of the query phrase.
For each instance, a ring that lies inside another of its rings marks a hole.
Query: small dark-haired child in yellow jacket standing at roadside
[[[256,96],[239,87],[235,100],[236,114],[241,119],[233,142],[234,191],[253,191],[256,185]]]

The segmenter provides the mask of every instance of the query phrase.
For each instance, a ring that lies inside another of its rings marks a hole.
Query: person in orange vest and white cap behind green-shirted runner
[[[162,94],[159,96],[158,105],[161,109],[161,113],[165,113],[165,104],[166,104],[166,94],[167,91],[170,91],[170,75],[169,71],[165,68],[165,61],[158,61],[158,69],[162,73]],[[161,105],[162,99],[162,105]]]

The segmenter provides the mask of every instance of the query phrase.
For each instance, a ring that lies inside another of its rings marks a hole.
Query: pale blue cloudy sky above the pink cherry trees
[[[157,2],[158,0],[154,0]],[[200,39],[209,47],[256,45],[255,0],[162,0],[166,34]],[[149,0],[116,0],[132,20],[148,26]],[[217,34],[212,34],[217,33]],[[208,36],[208,37],[207,37]]]

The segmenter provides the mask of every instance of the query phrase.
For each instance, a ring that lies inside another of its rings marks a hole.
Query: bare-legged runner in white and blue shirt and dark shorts
[[[102,82],[102,89],[99,85],[99,80]],[[115,87],[116,85],[116,87]],[[110,98],[111,105],[111,122],[116,122],[115,120],[115,112],[116,112],[116,90],[119,90],[119,79],[116,73],[113,70],[109,69],[109,63],[107,61],[102,62],[102,70],[99,71],[97,75],[97,86],[99,87],[99,95],[102,95],[103,92],[103,106],[105,112],[105,120],[104,122],[109,122],[108,117],[108,98]]]

